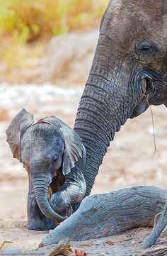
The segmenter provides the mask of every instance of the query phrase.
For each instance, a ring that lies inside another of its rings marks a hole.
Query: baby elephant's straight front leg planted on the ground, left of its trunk
[[[27,201],[28,229],[50,230],[57,226],[57,223],[47,218],[41,211],[35,199],[33,183],[29,176],[29,191]]]

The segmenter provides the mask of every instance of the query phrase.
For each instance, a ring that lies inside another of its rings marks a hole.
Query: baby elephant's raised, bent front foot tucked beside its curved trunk
[[[72,206],[69,203],[67,196],[65,196],[63,192],[52,194],[50,206],[55,212],[62,216],[69,217],[73,213]]]

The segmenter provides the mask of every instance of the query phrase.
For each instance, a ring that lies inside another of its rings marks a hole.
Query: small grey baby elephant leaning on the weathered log
[[[6,130],[13,157],[28,172],[28,229],[55,228],[86,192],[81,138],[55,116],[34,123],[23,109]]]

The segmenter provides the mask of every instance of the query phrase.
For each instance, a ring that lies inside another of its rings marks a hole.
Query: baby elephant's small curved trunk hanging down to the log
[[[45,176],[39,177],[38,175],[37,177],[32,177],[32,182],[35,192],[35,199],[38,203],[40,211],[42,211],[47,218],[51,218],[53,221],[64,221],[67,217],[63,217],[55,213],[49,204],[47,199],[48,182]]]

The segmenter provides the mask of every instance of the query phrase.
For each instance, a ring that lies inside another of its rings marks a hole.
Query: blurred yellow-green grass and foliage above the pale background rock
[[[28,67],[54,35],[99,26],[108,0],[0,0],[0,59]]]

